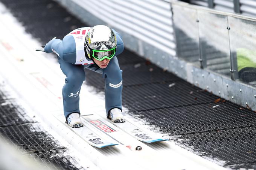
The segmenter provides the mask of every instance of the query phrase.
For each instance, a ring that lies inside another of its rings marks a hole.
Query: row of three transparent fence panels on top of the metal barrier
[[[255,18],[185,4],[172,4],[172,11],[178,57],[233,80],[256,84]]]

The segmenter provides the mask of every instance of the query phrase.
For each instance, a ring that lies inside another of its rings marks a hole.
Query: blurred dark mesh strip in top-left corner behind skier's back
[[[24,25],[26,32],[42,43],[47,43],[55,36],[62,39],[70,31],[88,26],[52,0],[0,1]]]

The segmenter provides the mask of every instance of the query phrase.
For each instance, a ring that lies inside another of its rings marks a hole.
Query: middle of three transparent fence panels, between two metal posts
[[[230,77],[227,16],[198,10],[198,19],[203,68]]]

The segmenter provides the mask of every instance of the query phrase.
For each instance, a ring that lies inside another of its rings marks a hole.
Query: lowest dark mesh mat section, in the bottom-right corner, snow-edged
[[[171,137],[184,148],[203,157],[225,160],[225,166],[254,163],[256,159],[256,127],[218,130]],[[196,147],[192,149],[191,147]],[[241,166],[244,168],[244,166]],[[236,169],[236,166],[233,166]],[[251,167],[250,167],[251,168]]]

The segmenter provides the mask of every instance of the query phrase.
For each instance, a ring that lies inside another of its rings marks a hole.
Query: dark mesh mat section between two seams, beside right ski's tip
[[[256,126],[256,114],[230,102],[197,104],[166,109],[130,112],[157,133],[171,135]],[[157,128],[155,128],[157,125]]]

